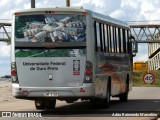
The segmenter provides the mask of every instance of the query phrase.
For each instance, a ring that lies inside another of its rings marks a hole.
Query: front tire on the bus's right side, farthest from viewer
[[[122,93],[119,95],[119,99],[121,102],[127,102],[128,101],[128,89],[129,89],[129,85],[126,84],[125,87],[125,93]]]

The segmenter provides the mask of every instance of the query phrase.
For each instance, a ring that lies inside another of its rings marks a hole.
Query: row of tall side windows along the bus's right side
[[[128,53],[129,31],[125,28],[94,21],[95,51]]]

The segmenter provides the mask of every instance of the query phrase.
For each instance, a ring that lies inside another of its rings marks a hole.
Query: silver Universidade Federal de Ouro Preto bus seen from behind
[[[15,12],[11,38],[12,94],[55,109],[79,99],[108,107],[132,89],[129,26],[82,7]],[[94,105],[94,104],[93,104]]]

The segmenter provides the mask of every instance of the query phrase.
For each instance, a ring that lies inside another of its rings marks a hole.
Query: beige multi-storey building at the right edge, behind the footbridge
[[[160,40],[160,34],[153,37],[155,40]],[[148,69],[160,70],[160,43],[148,44]]]

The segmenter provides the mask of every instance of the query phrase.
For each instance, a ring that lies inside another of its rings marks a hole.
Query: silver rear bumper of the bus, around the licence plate
[[[58,96],[44,96],[44,93],[56,92]],[[21,87],[19,84],[12,84],[12,95],[16,98],[64,98],[64,97],[93,97],[93,83],[86,83],[78,87]]]

